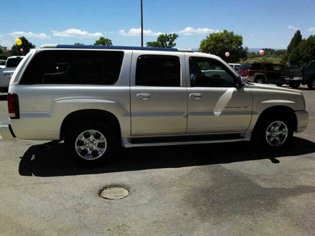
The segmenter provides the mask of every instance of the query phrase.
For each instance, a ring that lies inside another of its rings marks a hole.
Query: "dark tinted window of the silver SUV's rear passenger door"
[[[138,58],[136,85],[139,86],[181,86],[181,65],[179,57],[143,55]]]

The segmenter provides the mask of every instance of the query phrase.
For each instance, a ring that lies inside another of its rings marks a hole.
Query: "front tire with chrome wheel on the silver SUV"
[[[281,115],[268,115],[260,118],[256,124],[252,134],[253,144],[260,150],[281,150],[292,140],[293,122]]]

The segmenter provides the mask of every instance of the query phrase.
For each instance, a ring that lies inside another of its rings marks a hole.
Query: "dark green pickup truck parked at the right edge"
[[[315,89],[315,60],[308,67],[284,67],[283,78],[292,88],[298,88],[302,84],[309,89]]]

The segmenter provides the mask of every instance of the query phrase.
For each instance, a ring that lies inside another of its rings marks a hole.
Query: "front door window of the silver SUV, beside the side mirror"
[[[191,87],[234,87],[233,73],[216,59],[191,57],[189,74]]]

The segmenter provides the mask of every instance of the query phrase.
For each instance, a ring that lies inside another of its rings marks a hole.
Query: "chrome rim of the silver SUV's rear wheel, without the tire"
[[[95,160],[102,156],[107,148],[107,141],[103,134],[96,130],[86,130],[75,140],[75,150],[86,160]]]

